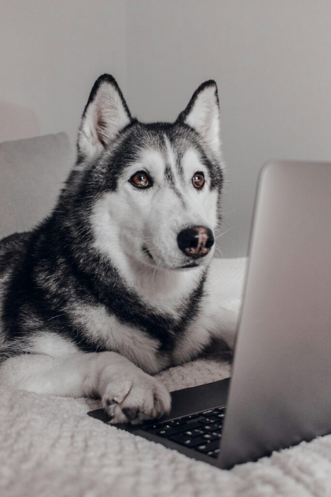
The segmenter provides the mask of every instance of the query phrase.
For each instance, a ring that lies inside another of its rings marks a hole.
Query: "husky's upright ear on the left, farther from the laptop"
[[[131,122],[122,91],[109,74],[94,83],[84,109],[77,138],[78,162],[102,151]]]

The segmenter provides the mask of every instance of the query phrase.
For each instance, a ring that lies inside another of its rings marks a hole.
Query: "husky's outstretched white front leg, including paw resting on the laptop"
[[[171,404],[164,385],[116,352],[18,355],[1,364],[0,385],[68,397],[97,394],[113,423],[153,419]]]

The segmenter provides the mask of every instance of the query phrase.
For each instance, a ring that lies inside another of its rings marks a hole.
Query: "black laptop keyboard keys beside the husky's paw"
[[[224,416],[225,406],[219,406],[171,421],[149,424],[142,429],[210,457],[217,457]]]

